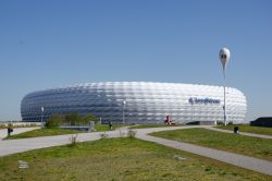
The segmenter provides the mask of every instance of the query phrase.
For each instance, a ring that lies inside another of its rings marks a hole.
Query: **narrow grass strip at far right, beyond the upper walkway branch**
[[[255,134],[264,134],[272,135],[272,128],[262,128],[262,126],[251,126],[251,125],[219,125],[217,129],[232,130],[234,126],[238,126],[240,132],[255,133]]]

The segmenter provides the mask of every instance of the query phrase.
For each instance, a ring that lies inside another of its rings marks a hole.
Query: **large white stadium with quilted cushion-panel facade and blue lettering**
[[[34,92],[21,104],[23,121],[47,120],[52,114],[95,114],[102,123],[223,122],[222,86],[153,83],[99,82]],[[41,107],[44,111],[41,112]],[[226,117],[244,123],[247,109],[244,94],[226,87]],[[123,118],[124,116],[124,118]]]

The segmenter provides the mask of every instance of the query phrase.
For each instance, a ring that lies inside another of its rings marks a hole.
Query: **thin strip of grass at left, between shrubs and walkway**
[[[28,132],[11,135],[7,140],[14,138],[28,138],[28,137],[38,137],[38,136],[51,136],[51,135],[61,135],[61,134],[75,134],[84,133],[85,131],[67,130],[67,129],[37,129]]]

